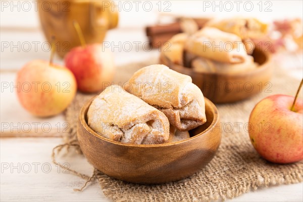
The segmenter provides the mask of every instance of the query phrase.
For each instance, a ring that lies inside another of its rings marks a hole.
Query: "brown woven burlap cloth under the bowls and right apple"
[[[123,83],[137,69],[156,63],[155,59],[146,63],[118,67],[117,72],[120,78],[116,78],[115,81]],[[271,80],[272,86],[268,89],[272,92],[262,92],[234,104],[217,105],[223,129],[218,153],[209,165],[189,178],[160,185],[141,185],[116,180],[99,171],[95,171],[94,177],[98,180],[104,194],[114,201],[220,200],[233,198],[259,187],[302,182],[302,161],[288,165],[265,161],[252,147],[247,130],[243,127],[248,122],[252,108],[259,100],[276,93],[294,95],[299,82],[288,77],[281,68],[276,67]],[[78,93],[72,105],[67,109],[66,120],[71,124],[71,133],[65,137],[66,141],[76,138],[79,110],[92,96]],[[235,123],[238,122],[242,124],[237,128]]]

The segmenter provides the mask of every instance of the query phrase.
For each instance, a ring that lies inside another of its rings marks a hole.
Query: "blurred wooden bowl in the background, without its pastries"
[[[170,67],[172,70],[191,76],[192,82],[196,84],[204,96],[214,103],[236,102],[264,90],[270,90],[269,83],[273,73],[273,64],[268,52],[255,48],[252,54],[259,67],[240,73],[201,73],[191,68],[174,64],[161,54],[160,63]]]

